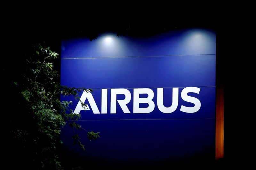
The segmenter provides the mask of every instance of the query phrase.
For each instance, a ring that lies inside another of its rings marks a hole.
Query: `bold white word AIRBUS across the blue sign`
[[[182,100],[193,103],[195,106],[186,107],[181,105],[180,111],[185,113],[195,113],[201,108],[201,102],[195,97],[188,96],[189,92],[199,94],[200,88],[198,87],[186,87],[181,91]],[[125,96],[124,100],[116,100],[117,94],[123,94]],[[140,98],[140,94],[147,94],[148,97]],[[133,113],[150,113],[155,109],[155,103],[153,101],[154,92],[150,88],[137,88],[133,89]],[[92,107],[93,114],[100,114],[100,111],[92,97],[92,93],[84,91],[80,100],[85,102],[88,99],[90,107]],[[172,105],[170,107],[164,106],[164,88],[157,88],[157,107],[162,113],[172,113],[174,112],[179,103],[179,88],[172,88]],[[127,104],[131,101],[131,93],[127,89],[111,89],[110,95],[110,113],[116,114],[116,101],[119,103],[121,109],[124,113],[131,113],[127,107]],[[85,104],[85,108],[82,103],[78,102],[74,114],[79,114],[81,110],[90,110],[90,107]],[[148,107],[140,107],[140,103],[148,103]],[[101,113],[107,114],[108,107],[108,89],[101,89]]]

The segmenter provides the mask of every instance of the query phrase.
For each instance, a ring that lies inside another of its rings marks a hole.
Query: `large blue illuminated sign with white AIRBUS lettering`
[[[72,97],[84,129],[100,132],[86,152],[64,146],[82,158],[147,162],[214,159],[216,35],[202,29],[147,38],[106,33],[94,41],[62,41],[61,84],[91,88]]]

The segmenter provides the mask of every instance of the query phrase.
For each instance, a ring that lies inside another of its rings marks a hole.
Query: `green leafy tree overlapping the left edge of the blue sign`
[[[58,54],[42,45],[33,46],[32,51],[32,54],[27,55],[23,63],[20,63],[22,67],[19,75],[12,83],[16,106],[22,110],[22,113],[13,115],[11,119],[15,124],[11,133],[13,143],[16,144],[13,148],[14,154],[20,152],[27,155],[27,161],[32,163],[35,169],[62,169],[57,152],[62,143],[60,128],[67,122],[75,129],[83,128],[77,123],[81,115],[73,114],[69,107],[72,101],[60,101],[59,97],[72,95],[76,100],[80,100],[78,92],[92,90],[60,85],[58,71],[53,69],[52,62]],[[19,109],[16,109],[16,112]],[[99,132],[87,133],[90,140],[100,137]],[[72,138],[74,144],[85,149],[77,133]]]

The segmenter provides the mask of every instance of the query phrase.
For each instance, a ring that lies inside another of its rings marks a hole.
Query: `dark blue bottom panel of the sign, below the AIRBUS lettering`
[[[185,159],[199,154],[214,159],[215,120],[113,120],[80,121],[85,129],[99,131],[100,139],[89,141],[79,130],[86,151],[73,145],[71,137],[63,137],[64,146],[80,157],[102,160],[156,161]],[[65,135],[73,129],[62,129]],[[86,160],[84,160],[86,161]],[[103,161],[102,161],[103,162]]]

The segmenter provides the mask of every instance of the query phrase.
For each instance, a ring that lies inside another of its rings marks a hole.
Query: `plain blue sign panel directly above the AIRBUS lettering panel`
[[[215,86],[215,55],[62,59],[61,80],[92,89]]]

